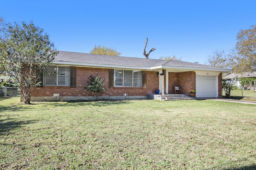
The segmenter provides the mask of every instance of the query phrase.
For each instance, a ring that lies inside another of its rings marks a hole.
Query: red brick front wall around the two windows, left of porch
[[[76,88],[70,88],[70,86],[44,86],[42,88],[36,87],[32,91],[33,97],[44,97],[53,96],[53,94],[59,94],[60,97],[64,96],[96,96],[94,93],[84,89],[87,85],[89,76],[99,76],[105,79],[105,87],[108,88],[103,94],[99,96],[123,96],[123,94],[128,94],[128,96],[146,96],[147,94],[154,94],[155,89],[158,88],[159,77],[156,72],[147,71],[147,88],[142,87],[114,87],[112,89],[108,88],[108,69],[106,68],[86,68],[77,67],[76,69]]]

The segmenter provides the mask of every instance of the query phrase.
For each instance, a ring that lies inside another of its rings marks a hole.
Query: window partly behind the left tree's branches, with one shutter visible
[[[44,86],[70,86],[70,67],[48,66],[44,70]]]

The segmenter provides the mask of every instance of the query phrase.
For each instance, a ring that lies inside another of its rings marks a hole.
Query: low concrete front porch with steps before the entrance
[[[193,100],[196,97],[190,97],[186,94],[148,94],[147,99],[151,100],[162,100],[162,101],[169,101],[169,100]]]

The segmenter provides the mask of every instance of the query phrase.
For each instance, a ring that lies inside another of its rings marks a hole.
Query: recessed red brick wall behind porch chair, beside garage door
[[[179,86],[182,94],[189,94],[190,90],[196,90],[196,73],[193,71],[169,72],[168,83],[169,94],[174,94],[174,86]]]

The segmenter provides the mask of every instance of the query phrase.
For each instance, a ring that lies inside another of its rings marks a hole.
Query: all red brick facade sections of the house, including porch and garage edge
[[[53,94],[59,94],[60,97],[66,96],[95,96],[94,93],[84,89],[87,85],[88,77],[99,76],[105,79],[105,87],[109,84],[109,69],[108,68],[87,68],[77,67],[76,69],[76,88],[70,86],[44,86],[35,87],[32,91],[32,97],[47,97]],[[174,86],[180,86],[182,94],[189,94],[190,90],[196,90],[196,73],[188,72],[169,72],[168,73],[168,94],[174,94]],[[155,89],[159,88],[159,77],[156,71],[146,71],[146,88],[143,87],[114,87],[108,88],[99,96],[147,96],[154,94]],[[218,96],[222,96],[222,74],[218,76]]]

